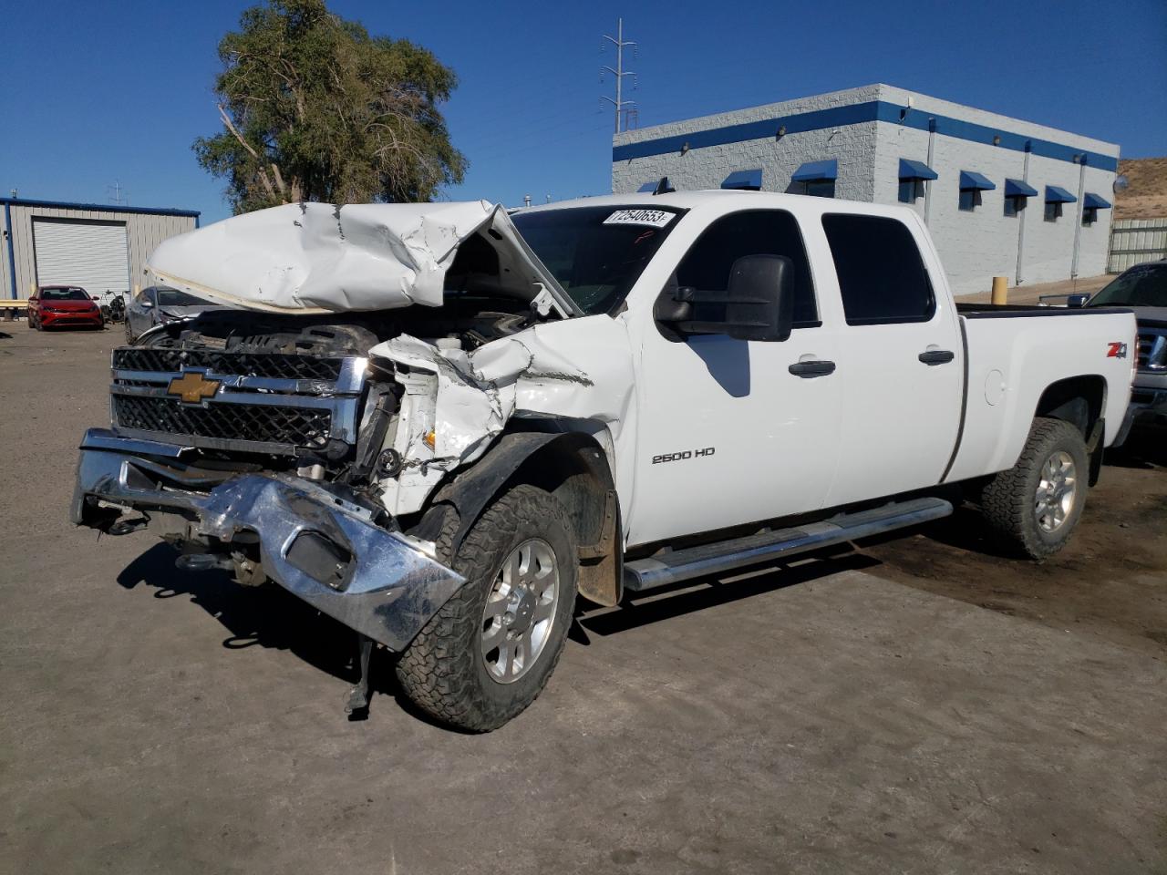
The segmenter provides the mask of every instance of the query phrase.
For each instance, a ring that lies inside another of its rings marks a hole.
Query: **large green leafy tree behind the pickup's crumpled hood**
[[[195,140],[235,211],[298,201],[429,201],[466,158],[438,104],[456,78],[407,40],[370,36],[324,0],[268,0],[219,42],[225,130]]]

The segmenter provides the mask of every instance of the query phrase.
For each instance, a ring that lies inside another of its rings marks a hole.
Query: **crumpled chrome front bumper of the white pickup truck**
[[[315,483],[260,474],[224,481],[183,463],[190,452],[89,429],[72,522],[109,528],[111,513],[130,510],[146,519],[183,520],[186,540],[224,550],[258,545],[267,576],[394,651],[404,650],[466,582],[401,533],[375,524],[368,509]]]

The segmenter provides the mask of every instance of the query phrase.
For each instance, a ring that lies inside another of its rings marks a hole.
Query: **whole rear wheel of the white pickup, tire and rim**
[[[1089,474],[1082,433],[1060,419],[1035,419],[1016,464],[985,485],[981,511],[1008,545],[1046,559],[1069,541]]]

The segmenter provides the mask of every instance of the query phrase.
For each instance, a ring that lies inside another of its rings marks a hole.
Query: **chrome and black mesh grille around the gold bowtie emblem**
[[[365,359],[124,346],[110,412],[119,434],[188,446],[343,455],[356,443]],[[198,373],[214,394],[184,401],[172,380]]]

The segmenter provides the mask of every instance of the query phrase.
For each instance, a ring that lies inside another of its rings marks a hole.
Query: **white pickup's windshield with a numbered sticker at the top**
[[[519,212],[511,220],[559,285],[587,314],[624,300],[680,210],[574,206]]]

